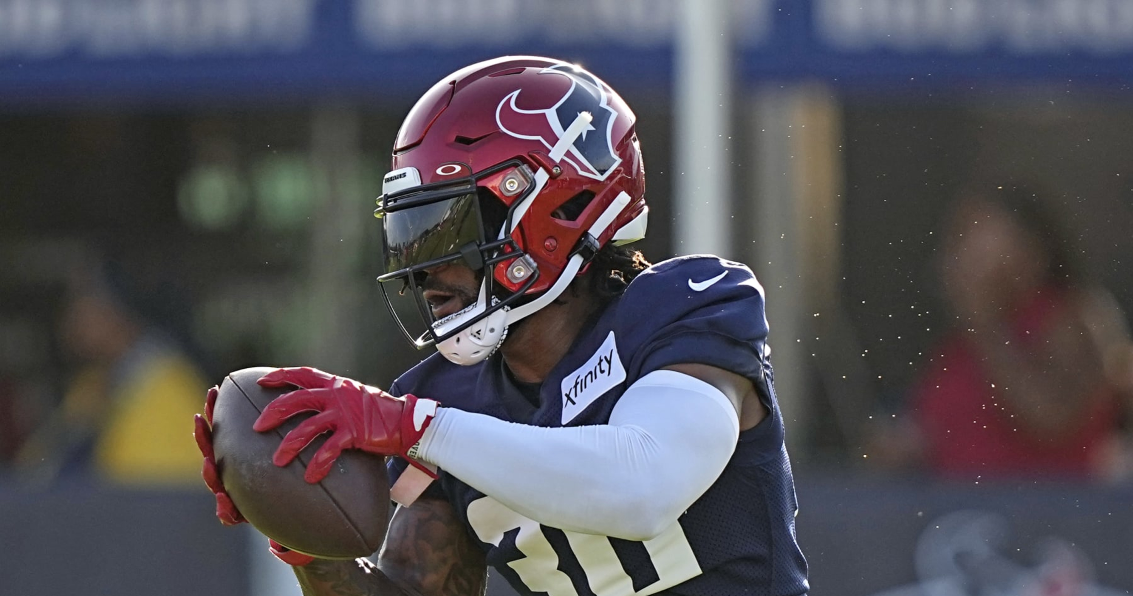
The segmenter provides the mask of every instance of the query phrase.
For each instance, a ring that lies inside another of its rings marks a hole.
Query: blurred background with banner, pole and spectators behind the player
[[[505,53],[634,109],[651,261],[759,274],[813,596],[1133,590],[1133,2],[0,0],[0,594],[296,593],[191,414],[426,356],[374,198]]]

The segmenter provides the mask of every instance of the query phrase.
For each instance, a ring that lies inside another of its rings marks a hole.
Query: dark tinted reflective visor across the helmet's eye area
[[[478,246],[482,229],[476,193],[391,211],[382,218],[385,271],[392,273]]]

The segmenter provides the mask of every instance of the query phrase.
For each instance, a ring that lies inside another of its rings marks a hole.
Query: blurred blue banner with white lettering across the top
[[[681,0],[0,0],[0,101],[404,101],[505,53],[667,88]],[[733,0],[747,82],[1133,79],[1128,0]]]

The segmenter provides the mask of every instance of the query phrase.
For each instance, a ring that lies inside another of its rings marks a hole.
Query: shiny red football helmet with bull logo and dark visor
[[[486,60],[426,92],[398,133],[375,212],[378,280],[406,337],[457,364],[480,361],[599,248],[645,237],[634,121],[600,79],[550,58]],[[436,321],[420,282],[457,259],[483,273],[479,297]],[[414,333],[407,321],[418,317],[424,331]]]

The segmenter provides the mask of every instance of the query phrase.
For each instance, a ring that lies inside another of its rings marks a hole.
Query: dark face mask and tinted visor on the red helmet
[[[525,188],[523,193],[517,193],[512,207],[535,190],[530,170],[513,161],[452,182],[410,187],[378,198],[376,213],[383,223],[387,272],[378,282],[390,313],[417,348],[442,342],[513,305],[538,279],[538,271],[529,266],[525,275],[514,280],[520,282],[519,289],[509,292],[493,275],[495,267],[504,262],[516,270],[510,263],[525,256],[509,231],[514,208],[508,208],[492,190],[477,186],[478,180],[497,179],[501,172],[505,179],[521,180],[518,186]],[[453,324],[454,315],[437,320],[424,296],[429,270],[451,264],[472,270],[479,283],[478,296],[457,297],[472,301],[457,314],[477,310],[476,316],[468,316],[459,324]]]

